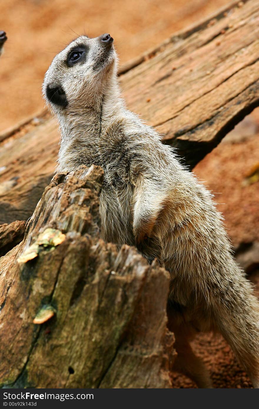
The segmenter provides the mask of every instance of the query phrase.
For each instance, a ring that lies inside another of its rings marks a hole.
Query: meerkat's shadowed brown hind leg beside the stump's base
[[[213,388],[204,362],[197,357],[186,339],[176,337],[175,348],[177,352],[173,370],[181,372],[193,380],[198,388]]]

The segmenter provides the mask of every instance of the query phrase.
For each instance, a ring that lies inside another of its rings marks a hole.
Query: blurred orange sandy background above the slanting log
[[[53,57],[70,41],[109,32],[120,63],[158,45],[228,0],[2,0],[8,43],[0,64],[0,132],[44,106],[41,84]]]

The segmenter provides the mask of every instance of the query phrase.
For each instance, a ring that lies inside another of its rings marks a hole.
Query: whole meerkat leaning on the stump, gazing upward
[[[104,169],[101,235],[136,246],[171,274],[168,326],[176,337],[175,369],[198,387],[212,382],[189,344],[197,332],[223,335],[259,387],[259,303],[235,263],[212,195],[160,135],[128,111],[109,34],[80,36],[57,54],[43,95],[59,120],[58,172]]]

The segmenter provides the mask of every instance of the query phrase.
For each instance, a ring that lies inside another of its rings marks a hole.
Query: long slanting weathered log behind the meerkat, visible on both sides
[[[128,107],[178,148],[190,169],[259,105],[258,18],[257,0],[232,2],[121,70]],[[41,196],[54,172],[57,125],[43,112],[0,140],[0,184],[19,176],[0,196],[0,222],[27,219],[38,201],[34,189]]]

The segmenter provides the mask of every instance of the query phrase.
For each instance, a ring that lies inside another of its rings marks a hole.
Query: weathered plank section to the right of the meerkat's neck
[[[131,110],[192,169],[259,105],[259,3],[173,36],[121,77]]]

